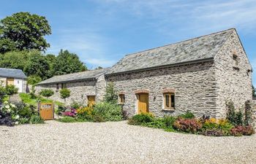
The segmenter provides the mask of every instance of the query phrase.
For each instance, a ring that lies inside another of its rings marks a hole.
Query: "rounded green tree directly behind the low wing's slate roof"
[[[70,74],[78,71],[86,71],[86,66],[79,60],[78,55],[68,50],[61,50],[53,64],[54,75]]]

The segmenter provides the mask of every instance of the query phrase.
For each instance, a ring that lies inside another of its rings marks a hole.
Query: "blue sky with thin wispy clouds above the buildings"
[[[235,27],[256,71],[256,0],[1,0],[0,19],[15,12],[47,17],[52,28],[47,53],[75,52],[89,69]]]

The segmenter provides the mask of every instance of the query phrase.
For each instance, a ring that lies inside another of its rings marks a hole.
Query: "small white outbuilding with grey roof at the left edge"
[[[15,85],[18,87],[18,93],[26,93],[27,83],[26,75],[20,69],[0,68],[0,85]]]

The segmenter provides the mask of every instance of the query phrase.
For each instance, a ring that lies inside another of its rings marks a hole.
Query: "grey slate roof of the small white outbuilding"
[[[26,79],[26,75],[20,69],[0,68],[0,77],[11,77],[16,79]]]

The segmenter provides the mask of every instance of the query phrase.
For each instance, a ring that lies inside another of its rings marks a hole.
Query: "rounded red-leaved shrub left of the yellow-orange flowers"
[[[196,133],[201,130],[202,124],[196,119],[184,119],[179,117],[178,120],[173,123],[173,128],[187,133]]]

